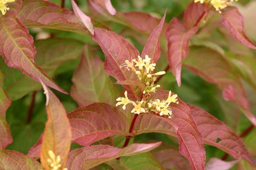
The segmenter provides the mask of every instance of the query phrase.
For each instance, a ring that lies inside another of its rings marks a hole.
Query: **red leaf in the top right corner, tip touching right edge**
[[[240,43],[251,49],[256,49],[256,44],[244,33],[244,18],[239,10],[230,6],[221,13],[221,22]]]

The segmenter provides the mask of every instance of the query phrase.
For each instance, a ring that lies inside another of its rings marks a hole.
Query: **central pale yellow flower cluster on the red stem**
[[[125,110],[127,104],[132,104],[133,109],[131,112],[134,114],[155,112],[160,116],[168,116],[168,118],[172,118],[172,109],[170,108],[170,104],[179,103],[177,102],[177,95],[172,95],[172,92],[170,91],[166,100],[149,99],[150,93],[155,93],[156,88],[160,87],[160,85],[155,84],[157,76],[164,75],[165,72],[154,73],[156,63],[152,63],[151,58],[147,55],[145,56],[145,59],[138,56],[137,59],[132,59],[131,62],[126,60],[124,66],[126,66],[127,70],[135,72],[139,81],[142,82],[145,87],[143,89],[143,97],[141,101],[134,102],[130,100],[127,96],[127,91],[125,91],[125,97],[119,97],[116,99],[116,106],[123,105],[122,108]]]

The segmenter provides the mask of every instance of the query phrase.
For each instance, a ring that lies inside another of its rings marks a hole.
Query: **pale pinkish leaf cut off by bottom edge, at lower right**
[[[233,161],[224,161],[219,158],[211,158],[209,162],[207,162],[205,169],[206,170],[228,170],[232,168],[235,164],[239,162],[238,160],[233,160]]]

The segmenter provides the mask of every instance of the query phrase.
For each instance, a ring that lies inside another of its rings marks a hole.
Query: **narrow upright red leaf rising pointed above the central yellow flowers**
[[[165,19],[166,11],[164,13],[163,19],[161,19],[160,23],[154,31],[150,34],[147,43],[141,53],[141,58],[144,58],[145,55],[148,55],[153,63],[157,63],[160,54],[161,54],[161,49],[160,49],[160,36],[161,32],[164,26],[164,19]]]

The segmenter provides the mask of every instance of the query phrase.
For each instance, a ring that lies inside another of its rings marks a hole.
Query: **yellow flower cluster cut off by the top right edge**
[[[211,3],[212,6],[221,13],[221,10],[229,6],[234,0],[195,0],[195,3]],[[238,1],[238,0],[235,0]]]

